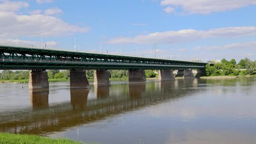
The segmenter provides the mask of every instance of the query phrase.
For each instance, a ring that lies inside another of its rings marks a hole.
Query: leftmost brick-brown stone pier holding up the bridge
[[[29,89],[49,89],[46,70],[32,70],[29,72]]]

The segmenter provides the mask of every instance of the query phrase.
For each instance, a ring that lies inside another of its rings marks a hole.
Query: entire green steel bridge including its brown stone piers
[[[94,83],[109,83],[108,70],[129,70],[129,82],[145,82],[144,70],[159,70],[159,80],[175,80],[172,70],[195,78],[192,69],[207,62],[178,61],[143,56],[114,55],[80,50],[0,44],[0,70],[31,70],[29,88],[49,88],[46,70],[70,70],[70,88],[89,88],[85,70],[94,71]],[[179,73],[179,74],[180,74]]]

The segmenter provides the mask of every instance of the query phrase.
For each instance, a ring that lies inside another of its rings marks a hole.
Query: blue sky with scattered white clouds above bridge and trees
[[[255,61],[255,14],[256,0],[0,0],[0,43]]]

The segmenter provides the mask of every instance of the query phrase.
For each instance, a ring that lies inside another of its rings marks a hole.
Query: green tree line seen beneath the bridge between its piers
[[[49,79],[69,79],[69,70],[47,70]],[[87,79],[94,79],[94,70],[86,71]],[[146,77],[156,77],[154,70],[145,70]],[[127,79],[128,70],[109,70],[109,78]],[[29,79],[29,71],[3,70],[0,80],[25,80]]]

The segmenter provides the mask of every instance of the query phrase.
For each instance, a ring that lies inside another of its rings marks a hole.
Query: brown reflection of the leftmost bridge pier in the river
[[[33,109],[49,106],[49,89],[29,89],[30,103]]]

